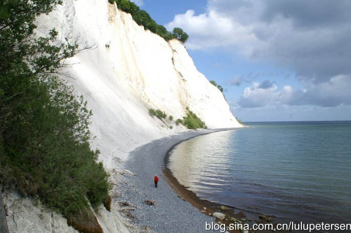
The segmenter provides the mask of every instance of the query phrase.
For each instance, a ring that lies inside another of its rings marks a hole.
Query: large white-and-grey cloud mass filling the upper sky
[[[208,0],[207,12],[176,15],[189,49],[223,47],[255,61],[287,66],[302,80],[351,73],[351,1]]]

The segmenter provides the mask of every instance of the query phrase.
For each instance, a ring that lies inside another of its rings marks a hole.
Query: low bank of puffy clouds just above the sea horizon
[[[253,82],[245,88],[243,96],[237,102],[242,108],[262,108],[279,106],[316,105],[336,107],[351,105],[349,94],[351,76],[337,75],[323,83],[305,83],[304,89],[293,90],[286,85],[278,89],[274,82]]]

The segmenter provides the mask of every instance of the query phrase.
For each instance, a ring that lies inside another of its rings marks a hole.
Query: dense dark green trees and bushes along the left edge
[[[0,2],[0,180],[71,217],[108,195],[108,174],[90,148],[91,111],[54,75],[78,46],[33,38],[35,16],[59,1]]]

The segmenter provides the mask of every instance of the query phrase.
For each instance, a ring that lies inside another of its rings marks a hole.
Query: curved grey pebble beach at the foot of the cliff
[[[128,201],[137,206],[127,214],[133,223],[146,229],[146,232],[220,232],[205,230],[206,222],[215,223],[215,219],[207,214],[210,211],[220,212],[219,205],[201,200],[186,187],[181,186],[171,172],[169,170],[167,172],[165,162],[172,148],[183,141],[200,135],[235,129],[237,128],[187,131],[154,140],[131,151],[123,167],[129,170],[130,174],[136,175],[128,174],[121,177],[118,187],[120,196],[117,200]],[[158,188],[153,185],[154,175],[160,177]],[[144,203],[145,200],[153,200],[156,205],[147,205]],[[206,211],[203,207],[206,207]],[[239,219],[244,217],[244,214],[236,214],[233,211],[235,210],[228,210],[225,214],[230,217],[237,216]],[[222,223],[233,222],[222,221]]]

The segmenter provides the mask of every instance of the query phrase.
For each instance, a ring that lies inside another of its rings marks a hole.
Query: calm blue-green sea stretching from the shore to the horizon
[[[304,222],[351,221],[351,121],[257,122],[173,149],[169,168],[200,198]]]

